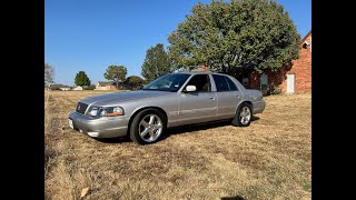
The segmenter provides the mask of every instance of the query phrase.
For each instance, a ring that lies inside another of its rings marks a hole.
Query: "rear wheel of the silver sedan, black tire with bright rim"
[[[246,116],[246,118],[244,118],[243,120],[243,116],[247,114],[247,112],[249,113],[249,116]],[[241,116],[243,114],[243,116]],[[251,106],[247,102],[243,102],[237,111],[236,114],[231,121],[233,126],[235,127],[248,127],[249,123],[251,122],[253,119],[253,109]]]

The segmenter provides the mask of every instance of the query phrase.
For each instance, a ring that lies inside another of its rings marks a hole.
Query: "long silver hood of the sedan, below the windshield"
[[[82,99],[80,100],[80,102],[83,102],[87,104],[93,103],[96,106],[107,106],[107,104],[115,104],[123,101],[168,96],[172,93],[174,92],[169,92],[169,91],[144,91],[144,90],[126,91],[126,92],[115,92],[115,93],[95,96],[95,97]]]

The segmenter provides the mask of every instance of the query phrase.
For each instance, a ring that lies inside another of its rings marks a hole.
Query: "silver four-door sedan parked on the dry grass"
[[[258,90],[215,72],[162,76],[138,91],[81,99],[69,114],[72,129],[92,138],[130,136],[137,143],[159,140],[166,128],[233,119],[247,127],[266,102]]]

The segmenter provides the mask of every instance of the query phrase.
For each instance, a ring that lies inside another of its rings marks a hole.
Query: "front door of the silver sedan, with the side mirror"
[[[186,92],[187,86],[197,88],[194,92]],[[179,97],[179,124],[210,121],[216,118],[217,99],[211,92],[209,74],[195,74],[185,86]]]

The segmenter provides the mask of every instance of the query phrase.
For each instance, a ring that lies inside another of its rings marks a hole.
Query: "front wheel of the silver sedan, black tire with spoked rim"
[[[152,124],[149,124],[149,122],[147,122],[147,120],[150,119],[151,116],[154,116],[155,119],[154,119]],[[149,127],[145,127],[144,124],[140,124],[142,122],[142,120],[146,122],[145,124],[149,126]],[[155,122],[157,124],[155,124]],[[158,128],[159,123],[161,124],[161,129]],[[150,127],[150,126],[152,126],[152,127]],[[156,129],[154,126],[157,126]],[[164,113],[161,113],[160,111],[158,111],[156,109],[151,109],[151,108],[141,110],[138,114],[136,114],[134,117],[132,122],[130,124],[130,139],[134,142],[139,143],[139,144],[155,143],[155,142],[159,141],[162,133],[166,131],[166,127],[167,127],[167,120],[166,120],[166,117]],[[140,132],[144,133],[145,131],[146,131],[146,134],[142,137],[142,134],[140,134]],[[152,133],[152,137],[151,137],[151,133]],[[147,136],[147,134],[149,134],[149,136]]]

